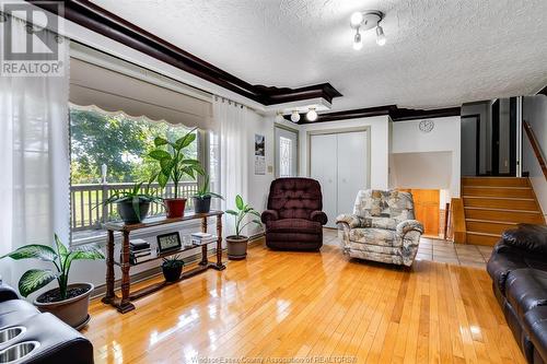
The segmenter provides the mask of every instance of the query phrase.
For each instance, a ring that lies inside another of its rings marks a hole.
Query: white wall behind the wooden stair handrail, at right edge
[[[523,119],[532,125],[544,157],[547,152],[547,96],[536,95],[524,97]],[[539,167],[528,137],[524,133],[523,139],[523,172],[529,172],[529,180],[534,186],[534,192],[547,218],[547,180]]]

